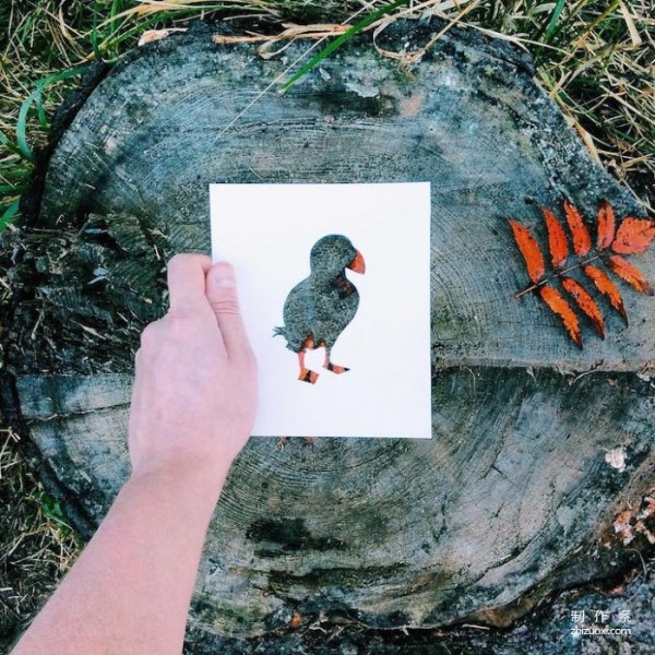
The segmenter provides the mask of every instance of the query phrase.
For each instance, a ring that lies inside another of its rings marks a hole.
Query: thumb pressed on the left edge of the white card
[[[250,343],[239,309],[237,278],[231,264],[219,262],[210,269],[205,279],[205,295],[216,315],[228,357],[250,353]]]

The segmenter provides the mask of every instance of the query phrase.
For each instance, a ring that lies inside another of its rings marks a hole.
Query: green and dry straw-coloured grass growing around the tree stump
[[[20,225],[19,199],[47,142],[53,110],[75,87],[84,67],[98,59],[116,61],[136,47],[146,29],[183,28],[190,19],[237,15],[259,16],[275,32],[285,29],[283,22],[347,22],[349,32],[335,28],[334,39],[320,44],[326,49],[317,45],[313,59],[308,56],[289,71],[287,85],[381,17],[425,20],[433,14],[520,43],[535,58],[538,81],[592,154],[635,189],[647,206],[653,202],[648,195],[655,177],[652,0],[460,0],[449,9],[444,4],[409,0],[1,2],[0,234],[12,223]],[[314,43],[308,41],[308,49]],[[0,308],[10,300],[11,289],[0,272]],[[59,505],[27,469],[17,437],[2,426],[0,437],[0,560],[9,557],[17,571],[0,587],[11,590],[15,600],[7,620],[17,624],[75,557],[79,541]],[[3,607],[0,604],[0,624],[5,622]]]

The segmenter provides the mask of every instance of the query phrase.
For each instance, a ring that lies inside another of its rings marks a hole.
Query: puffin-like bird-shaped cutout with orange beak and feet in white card
[[[273,336],[282,335],[287,348],[298,355],[298,380],[314,384],[319,373],[305,366],[307,350],[325,348],[323,368],[333,373],[349,369],[332,364],[330,352],[340,334],[350,323],[359,306],[359,294],[346,277],[346,269],[365,272],[364,257],[343,235],[319,239],[309,255],[309,277],[296,285],[284,303],[284,325]]]

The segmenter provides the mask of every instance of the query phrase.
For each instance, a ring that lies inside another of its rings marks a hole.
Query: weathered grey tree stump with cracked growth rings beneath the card
[[[413,50],[439,27],[396,23],[377,45]],[[128,476],[139,334],[166,311],[166,259],[210,250],[211,182],[428,180],[432,439],[251,439],[191,623],[253,636],[322,611],[376,628],[504,626],[618,571],[630,537],[612,524],[653,485],[653,299],[622,287],[629,324],[607,310],[605,341],[588,331],[577,348],[536,296],[514,298],[526,274],[508,218],[544,243],[540,207],[564,196],[593,234],[599,199],[620,217],[643,210],[590,158],[529,58],[452,29],[404,70],[360,36],[258,97],[307,45],[262,60],[214,34],[150,44],[97,83],[20,235],[3,405],[71,520],[90,535]],[[655,281],[652,253],[639,265]]]

